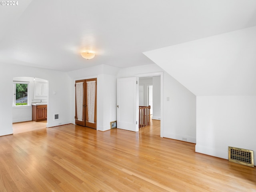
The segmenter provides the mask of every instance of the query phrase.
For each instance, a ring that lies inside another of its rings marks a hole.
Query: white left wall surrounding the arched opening
[[[71,122],[71,93],[70,78],[65,72],[53,70],[44,70],[13,64],[1,63],[0,73],[0,100],[4,101],[0,109],[0,136],[12,134],[12,82],[14,77],[38,77],[49,80],[49,98],[48,98],[48,120],[47,126],[58,126]],[[53,94],[56,91],[57,94]],[[59,114],[59,120],[54,121],[54,114]]]

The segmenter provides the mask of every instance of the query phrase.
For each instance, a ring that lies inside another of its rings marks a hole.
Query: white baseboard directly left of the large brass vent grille
[[[228,149],[227,151],[223,151],[223,150],[208,148],[208,147],[200,146],[196,144],[196,152],[214,156],[214,157],[223,158],[223,159],[228,159]]]

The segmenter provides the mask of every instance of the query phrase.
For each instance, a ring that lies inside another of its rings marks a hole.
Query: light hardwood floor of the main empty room
[[[255,192],[256,169],[188,142],[68,124],[0,137],[0,191]]]

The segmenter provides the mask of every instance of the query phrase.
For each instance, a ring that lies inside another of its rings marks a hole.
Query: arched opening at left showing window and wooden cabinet
[[[46,128],[48,81],[36,77],[13,78],[12,128],[13,133]],[[32,108],[37,109],[37,120],[32,121]],[[40,122],[40,123],[39,123]]]

